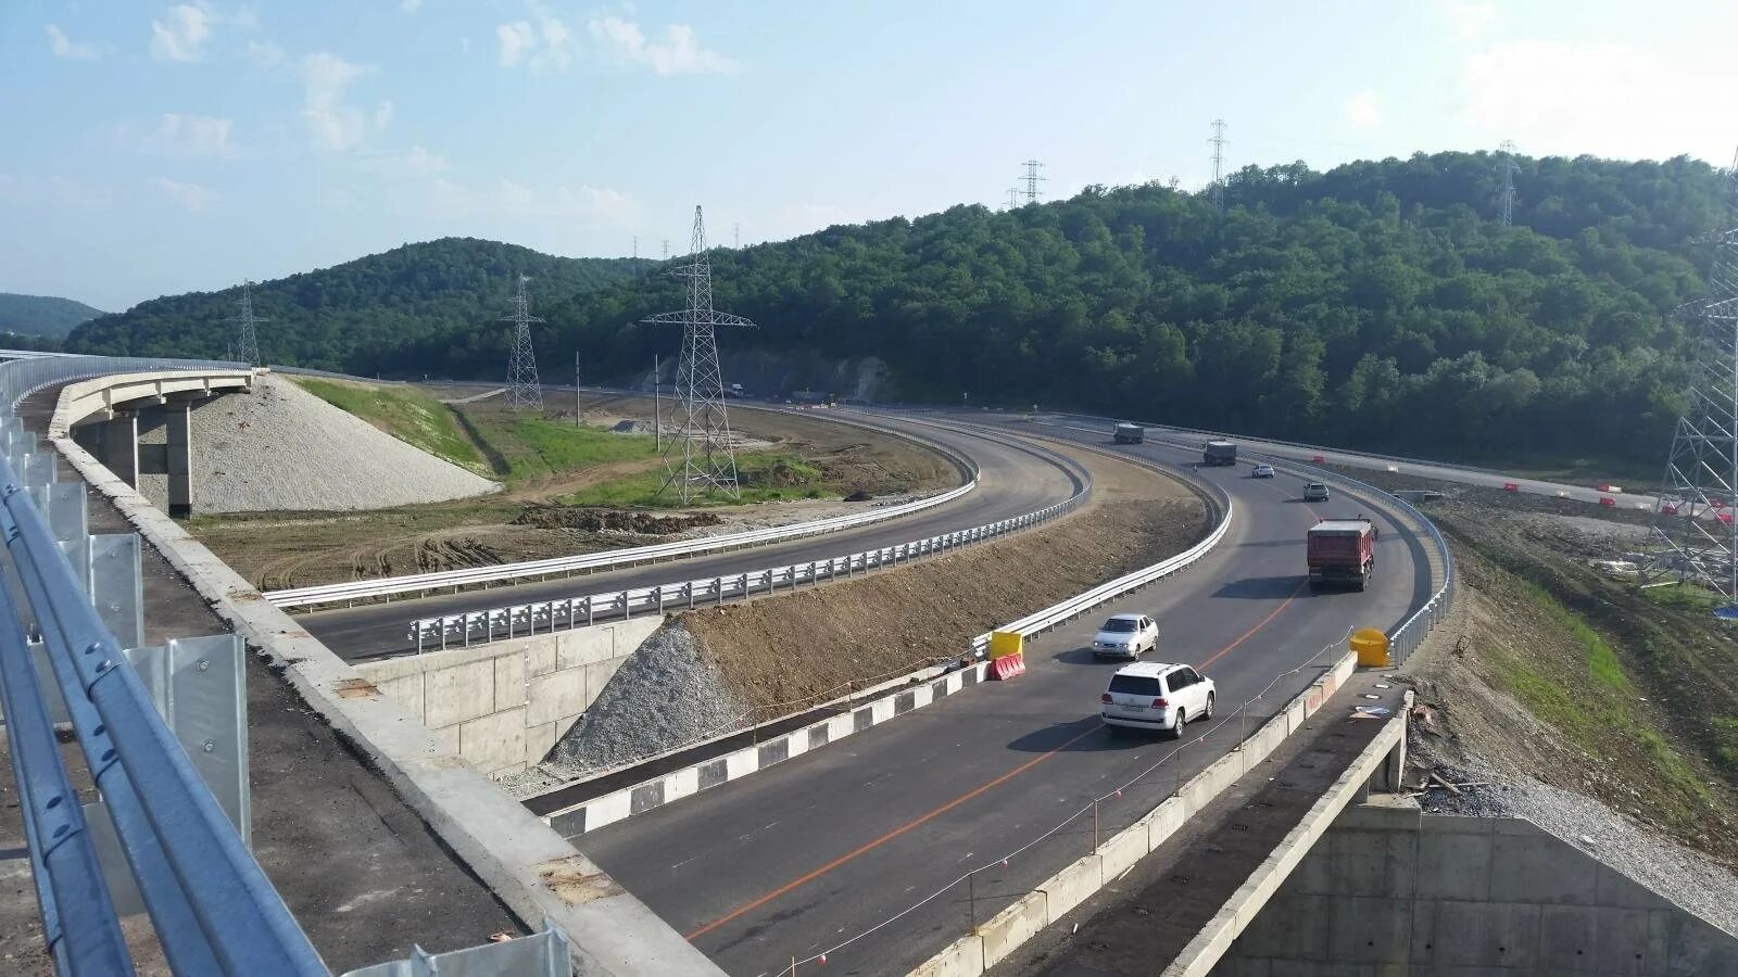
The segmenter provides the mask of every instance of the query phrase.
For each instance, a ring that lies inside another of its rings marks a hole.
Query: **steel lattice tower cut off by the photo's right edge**
[[[1677,421],[1653,522],[1656,556],[1642,584],[1696,581],[1738,600],[1738,160],[1715,235],[1708,296],[1686,309],[1698,323],[1689,410]]]

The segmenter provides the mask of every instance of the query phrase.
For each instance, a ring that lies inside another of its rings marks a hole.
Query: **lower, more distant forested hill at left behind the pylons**
[[[271,363],[408,374],[410,344],[461,346],[501,332],[520,275],[534,315],[546,304],[627,282],[657,263],[574,259],[476,238],[410,243],[332,268],[254,285],[261,355]],[[75,353],[221,358],[235,337],[240,289],[139,302],[73,330]],[[495,356],[499,358],[499,356]]]

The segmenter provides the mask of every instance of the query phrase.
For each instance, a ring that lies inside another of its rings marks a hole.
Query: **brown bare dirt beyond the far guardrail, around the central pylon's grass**
[[[556,391],[546,391],[546,403],[551,417],[572,419],[570,395],[561,407]],[[589,421],[650,419],[650,398],[591,396],[586,415]],[[612,476],[629,473],[622,466],[593,466],[527,480],[487,499],[372,513],[195,516],[188,528],[255,588],[283,589],[546,560],[787,525],[895,504],[959,483],[959,471],[952,462],[892,435],[761,410],[737,410],[732,419],[749,436],[817,464],[827,482],[866,488],[872,501],[803,499],[690,513],[659,511],[653,513],[657,522],[640,516],[626,522],[603,518],[596,528],[586,525],[587,520],[567,525],[561,518],[553,518],[547,513],[553,495],[596,483],[600,469],[612,469]],[[643,462],[629,466],[638,469]]]

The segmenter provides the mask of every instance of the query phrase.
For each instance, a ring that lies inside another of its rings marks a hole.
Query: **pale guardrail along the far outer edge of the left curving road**
[[[845,421],[829,417],[831,422],[848,424],[855,428],[867,428],[876,431],[885,431],[874,424],[864,424],[859,421]],[[902,433],[902,436],[912,436]],[[266,591],[262,596],[280,608],[309,608],[327,603],[351,603],[358,600],[375,600],[375,598],[393,598],[400,595],[424,595],[436,589],[452,588],[454,591],[469,586],[488,586],[488,584],[506,584],[521,582],[539,577],[551,575],[572,575],[580,572],[598,572],[612,570],[617,567],[631,567],[636,563],[655,563],[659,560],[676,560],[685,556],[699,556],[702,553],[716,553],[723,549],[739,549],[747,546],[761,546],[766,542],[782,542],[789,539],[803,539],[808,535],[824,535],[829,532],[841,532],[846,528],[857,528],[862,525],[871,525],[899,516],[909,516],[912,513],[921,513],[945,502],[952,502],[977,490],[978,487],[978,469],[965,454],[940,445],[926,438],[916,438],[926,447],[940,452],[949,461],[952,461],[963,475],[966,475],[966,483],[958,488],[949,488],[937,495],[928,495],[925,499],[914,499],[911,502],[902,502],[899,506],[885,506],[879,509],[871,509],[866,513],[852,513],[845,516],[831,516],[826,520],[813,520],[806,523],[793,523],[780,527],[766,527],[747,532],[735,532],[728,535],[711,535],[702,539],[690,539],[681,542],[659,542],[652,546],[636,546],[631,549],[612,549],[607,553],[582,553],[577,556],[553,556],[549,560],[527,560],[520,563],[501,563],[494,567],[466,567],[461,570],[441,570],[434,574],[410,574],[403,577],[379,577],[370,581],[348,581],[341,584],[318,584],[309,588],[289,588],[280,591]]]

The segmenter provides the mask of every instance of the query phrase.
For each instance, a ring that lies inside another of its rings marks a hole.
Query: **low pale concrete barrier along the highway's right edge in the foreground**
[[[1288,735],[1304,727],[1304,720],[1314,716],[1345,685],[1356,669],[1356,655],[1340,657],[1328,673],[1244,739],[1241,749],[1208,763],[1204,770],[1184,784],[1182,791],[1111,836],[1091,855],[1039,883],[1027,897],[1003,909],[975,932],[949,944],[947,949],[912,970],[911,977],[977,977],[1001,963],[1022,942],[1152,854],[1191,815],[1211,803],[1220,791],[1267,760]],[[1399,723],[1401,720],[1390,720],[1390,725],[1399,727]],[[1399,734],[1387,737],[1382,749],[1390,749],[1390,741],[1396,739],[1401,739]]]

